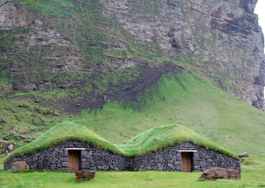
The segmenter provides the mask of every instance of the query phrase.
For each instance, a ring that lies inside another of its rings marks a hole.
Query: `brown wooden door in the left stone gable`
[[[68,168],[67,172],[75,173],[79,170],[79,150],[68,150]]]

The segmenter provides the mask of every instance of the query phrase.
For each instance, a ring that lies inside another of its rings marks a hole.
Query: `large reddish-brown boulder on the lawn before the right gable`
[[[226,168],[209,168],[200,176],[201,179],[240,179],[241,172]]]

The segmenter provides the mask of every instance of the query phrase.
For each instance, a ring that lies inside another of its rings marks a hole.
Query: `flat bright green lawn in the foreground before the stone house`
[[[90,181],[55,171],[0,172],[1,187],[264,187],[265,157],[245,158],[240,180],[202,181],[202,172],[96,172]]]

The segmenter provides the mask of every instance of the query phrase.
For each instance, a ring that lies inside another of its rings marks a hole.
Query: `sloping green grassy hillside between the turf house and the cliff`
[[[1,137],[7,135],[10,140],[0,141],[15,141],[16,147],[19,147],[58,123],[73,122],[112,143],[121,144],[148,129],[165,124],[181,124],[234,152],[265,155],[265,114],[224,93],[210,79],[187,72],[170,73],[162,76],[157,84],[138,97],[139,102],[109,102],[102,108],[83,110],[81,115],[71,116],[40,114],[36,107],[55,112],[56,107],[38,107],[29,99],[10,102],[2,99],[1,117],[6,117],[8,123],[1,125]],[[18,102],[29,107],[18,107]],[[41,123],[41,120],[46,125],[32,125],[33,121]]]

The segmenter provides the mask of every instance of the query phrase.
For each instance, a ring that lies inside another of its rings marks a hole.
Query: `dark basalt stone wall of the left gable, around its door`
[[[12,169],[12,163],[16,161],[26,161],[31,169],[67,170],[68,150],[65,148],[85,148],[79,157],[80,169],[125,170],[125,158],[122,155],[77,141],[68,141],[33,154],[15,156],[4,164],[4,170]]]

